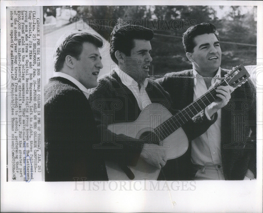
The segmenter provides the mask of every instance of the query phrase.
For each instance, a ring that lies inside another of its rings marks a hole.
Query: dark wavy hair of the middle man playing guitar
[[[146,27],[127,24],[119,18],[110,35],[110,57],[118,64],[118,60],[115,57],[117,50],[130,56],[131,49],[134,47],[133,39],[150,41],[153,38],[153,34],[153,31]]]

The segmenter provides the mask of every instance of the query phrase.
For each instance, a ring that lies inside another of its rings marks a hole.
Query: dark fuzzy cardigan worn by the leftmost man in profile
[[[45,86],[44,101],[45,181],[108,180],[104,160],[93,149],[98,132],[83,92],[55,77]]]

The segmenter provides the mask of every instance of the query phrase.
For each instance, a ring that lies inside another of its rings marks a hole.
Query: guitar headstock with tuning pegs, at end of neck
[[[226,82],[232,86],[237,87],[241,85],[242,83],[245,83],[245,81],[249,78],[249,73],[247,72],[246,68],[241,64],[237,66],[234,70],[229,72],[226,75]]]

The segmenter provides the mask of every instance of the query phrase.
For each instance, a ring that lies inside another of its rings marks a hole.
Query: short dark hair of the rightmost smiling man
[[[216,31],[215,25],[211,23],[201,23],[195,26],[189,27],[186,32],[183,33],[183,46],[185,52],[193,52],[195,47],[194,38],[203,34],[214,33],[219,41],[218,31]]]

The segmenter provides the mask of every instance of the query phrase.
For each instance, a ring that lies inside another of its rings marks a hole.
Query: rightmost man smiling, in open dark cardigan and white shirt
[[[183,34],[183,46],[193,69],[171,72],[156,80],[170,94],[175,109],[192,103],[230,71],[220,67],[218,35],[211,23],[189,27]],[[218,119],[204,134],[189,141],[188,151],[178,159],[180,180],[256,177],[256,92],[250,79],[231,93],[229,103],[218,110]],[[242,103],[247,103],[249,109]]]

